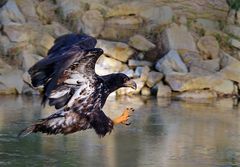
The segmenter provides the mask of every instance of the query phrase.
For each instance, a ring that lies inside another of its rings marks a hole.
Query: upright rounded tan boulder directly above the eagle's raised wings
[[[98,37],[103,30],[104,19],[98,10],[88,10],[82,16],[83,32]]]

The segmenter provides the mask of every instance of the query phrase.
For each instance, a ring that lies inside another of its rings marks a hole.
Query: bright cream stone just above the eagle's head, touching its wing
[[[99,64],[104,69],[107,69],[111,72],[120,72],[123,69],[122,62],[116,59],[107,57],[105,55],[100,56],[100,58],[97,61],[97,64]]]

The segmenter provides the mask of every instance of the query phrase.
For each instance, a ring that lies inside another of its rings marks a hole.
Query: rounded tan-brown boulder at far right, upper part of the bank
[[[201,37],[197,46],[202,53],[203,59],[215,59],[219,57],[219,44],[214,36]]]

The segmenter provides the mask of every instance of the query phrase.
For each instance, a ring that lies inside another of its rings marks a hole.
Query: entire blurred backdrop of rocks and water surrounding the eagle
[[[0,166],[240,166],[240,0],[0,0]],[[99,139],[17,133],[40,106],[28,69],[68,33],[97,39],[96,72],[123,72],[104,111],[136,109]]]

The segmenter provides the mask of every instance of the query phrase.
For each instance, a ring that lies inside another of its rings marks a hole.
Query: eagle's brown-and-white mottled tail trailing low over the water
[[[69,134],[90,128],[89,120],[72,111],[59,111],[45,119],[42,119],[30,127],[23,129],[18,137],[24,137],[31,133]]]

